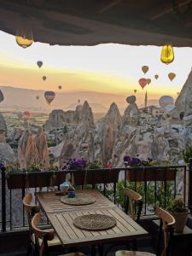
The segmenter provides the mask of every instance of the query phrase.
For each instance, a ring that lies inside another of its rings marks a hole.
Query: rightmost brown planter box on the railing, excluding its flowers
[[[175,169],[167,169],[165,167],[134,167],[126,171],[126,179],[129,182],[172,181],[175,180],[176,173]]]

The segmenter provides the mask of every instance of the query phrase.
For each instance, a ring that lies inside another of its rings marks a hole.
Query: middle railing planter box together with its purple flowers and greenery
[[[85,160],[74,160],[76,166],[73,165],[73,173],[75,185],[93,184],[96,183],[117,183],[119,179],[119,170],[105,169],[98,161],[85,163]],[[74,162],[73,162],[74,163]],[[79,166],[80,165],[80,166]],[[86,169],[85,169],[86,168]],[[71,166],[70,166],[71,169]],[[83,171],[84,170],[84,171]],[[96,171],[95,171],[96,170]]]

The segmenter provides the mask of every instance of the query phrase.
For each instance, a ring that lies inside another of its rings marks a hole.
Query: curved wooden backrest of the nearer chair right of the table
[[[161,256],[169,256],[171,255],[172,251],[172,235],[173,235],[173,225],[175,224],[175,218],[166,210],[157,207],[154,210],[155,215],[160,218],[160,231],[159,231],[159,238],[158,238],[158,245],[157,245],[157,255]],[[160,237],[164,234],[164,249],[163,252],[160,253]]]

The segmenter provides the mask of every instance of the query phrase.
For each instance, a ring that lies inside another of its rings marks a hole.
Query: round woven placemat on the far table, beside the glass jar
[[[94,204],[95,201],[96,201],[95,197],[86,195],[84,193],[77,194],[73,198],[68,198],[67,195],[61,197],[61,202],[67,205],[72,205],[72,206],[90,205],[90,204]]]

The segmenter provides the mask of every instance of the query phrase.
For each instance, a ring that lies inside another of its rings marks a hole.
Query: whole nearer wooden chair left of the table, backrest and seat
[[[41,221],[41,214],[36,213],[32,218],[32,230],[36,236],[38,241],[38,252],[37,256],[48,256],[49,255],[49,247],[55,244],[55,240],[58,240],[58,237],[55,235],[54,231],[50,230],[40,230],[38,228],[38,224]],[[84,253],[67,253],[63,254],[65,256],[84,256]],[[60,256],[63,256],[60,255]]]

